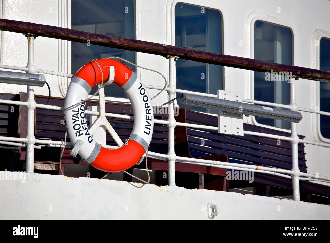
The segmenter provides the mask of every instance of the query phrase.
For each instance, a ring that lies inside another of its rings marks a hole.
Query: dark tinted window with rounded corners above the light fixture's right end
[[[292,34],[289,28],[263,21],[254,23],[254,59],[292,65]],[[287,75],[289,76],[289,75]],[[254,100],[290,103],[288,77],[254,72]],[[290,122],[255,117],[261,124],[290,129]]]

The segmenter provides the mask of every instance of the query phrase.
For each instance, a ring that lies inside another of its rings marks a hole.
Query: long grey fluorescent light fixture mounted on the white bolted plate
[[[299,122],[303,117],[298,111],[271,108],[262,105],[228,101],[198,95],[182,94],[180,102],[204,108],[212,108],[223,112],[259,116],[282,121]]]

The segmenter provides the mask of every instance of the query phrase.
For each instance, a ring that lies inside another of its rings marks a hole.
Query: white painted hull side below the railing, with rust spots
[[[94,178],[2,172],[1,220],[330,220],[330,207],[274,197]],[[26,180],[25,180],[25,179]],[[26,181],[26,182],[22,182]]]

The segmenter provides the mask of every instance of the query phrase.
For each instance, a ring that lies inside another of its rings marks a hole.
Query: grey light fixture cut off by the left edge
[[[0,83],[43,87],[46,78],[44,74],[0,71]]]

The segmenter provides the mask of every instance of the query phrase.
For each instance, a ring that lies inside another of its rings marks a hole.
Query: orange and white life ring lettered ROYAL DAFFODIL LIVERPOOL
[[[118,149],[100,146],[89,133],[85,118],[85,103],[65,111],[70,141],[82,140],[79,155],[91,166],[106,172],[124,171],[143,156],[153,131],[153,110],[146,87],[137,74],[125,64],[111,60],[96,60],[103,72],[103,82],[109,79],[109,67],[115,67],[113,83],[121,87],[132,104],[134,124],[128,141]],[[65,108],[87,98],[91,89],[101,82],[101,70],[95,61],[88,62],[73,77],[65,97]]]

